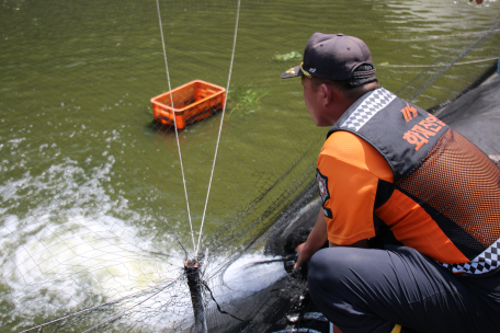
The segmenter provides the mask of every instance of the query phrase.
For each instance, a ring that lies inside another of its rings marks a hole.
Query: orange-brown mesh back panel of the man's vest
[[[461,245],[465,249],[471,246],[464,237],[467,236],[482,245],[476,251],[481,253],[500,238],[496,225],[500,216],[500,170],[476,146],[454,130],[446,131],[436,145],[441,143],[446,148],[434,148],[421,162],[425,168],[412,172],[397,186],[423,205],[429,204],[439,215],[444,215],[459,227],[455,227],[455,233],[458,234],[454,237],[461,239],[458,249],[462,250]],[[446,175],[446,182],[442,175]],[[455,198],[450,198],[445,192],[454,193]],[[453,231],[446,226],[440,227],[446,233]]]

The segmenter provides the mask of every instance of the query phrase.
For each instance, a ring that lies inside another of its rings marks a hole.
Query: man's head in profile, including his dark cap
[[[333,125],[354,101],[378,87],[368,47],[343,34],[312,34],[303,64],[281,77],[302,77],[304,100],[317,126]]]

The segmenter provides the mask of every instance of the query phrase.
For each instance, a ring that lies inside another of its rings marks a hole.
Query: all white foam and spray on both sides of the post
[[[9,314],[23,318],[24,328],[35,317],[58,317],[182,278],[181,249],[170,241],[163,251],[168,255],[155,254],[158,250],[150,244],[156,233],[141,232],[137,223],[144,217],[129,209],[124,197],[112,199],[106,193],[114,162],[106,156],[105,163],[89,172],[64,158],[37,175],[25,172],[0,184],[0,283],[9,287],[0,300],[13,305]],[[115,213],[130,216],[133,222]],[[215,257],[202,271],[211,277],[217,302],[229,305],[286,274],[282,262],[252,265],[271,259],[243,255],[218,275],[227,257]],[[215,275],[220,278],[212,278]],[[189,329],[190,291],[185,280],[174,284],[157,296],[151,291],[127,300],[112,313],[127,311],[130,322],[160,331]],[[207,303],[208,310],[215,308],[213,301]]]

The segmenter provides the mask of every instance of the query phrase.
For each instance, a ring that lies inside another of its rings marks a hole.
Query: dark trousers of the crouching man
[[[500,274],[456,276],[418,251],[329,248],[310,260],[312,301],[343,333],[500,332]]]

